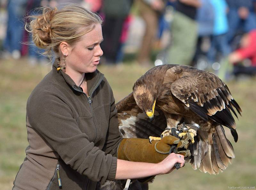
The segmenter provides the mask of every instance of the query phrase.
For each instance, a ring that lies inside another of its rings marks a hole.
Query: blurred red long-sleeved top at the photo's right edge
[[[236,50],[243,59],[250,59],[252,61],[253,67],[256,67],[256,30],[252,30],[248,33],[249,35],[249,45],[244,48],[239,48]]]

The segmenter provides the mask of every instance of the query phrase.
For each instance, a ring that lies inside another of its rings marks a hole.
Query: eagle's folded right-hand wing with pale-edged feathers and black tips
[[[168,69],[166,75],[181,66]],[[167,83],[167,81],[165,81]],[[227,85],[214,74],[199,69],[183,68],[171,84],[172,94],[204,121],[211,119],[228,128],[236,129],[235,120],[229,110],[241,115],[241,108],[231,96]],[[235,113],[237,117],[237,114]]]

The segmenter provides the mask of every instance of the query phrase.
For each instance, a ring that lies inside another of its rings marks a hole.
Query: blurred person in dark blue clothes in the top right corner
[[[228,3],[228,42],[231,43],[236,33],[241,30],[248,33],[256,29],[256,0],[226,0]]]

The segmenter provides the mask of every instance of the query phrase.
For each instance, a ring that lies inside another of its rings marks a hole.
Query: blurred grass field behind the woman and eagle
[[[28,146],[26,102],[30,92],[51,69],[50,65],[31,67],[26,59],[0,60],[0,189],[12,188]],[[132,63],[118,67],[100,66],[111,84],[116,102],[132,91],[132,85],[149,68]],[[230,186],[256,186],[256,84],[255,79],[229,82],[228,87],[243,110],[237,122],[238,142],[229,131],[234,146],[233,164],[218,175],[194,171],[189,164],[168,175],[157,176],[150,189],[193,190],[228,189]]]

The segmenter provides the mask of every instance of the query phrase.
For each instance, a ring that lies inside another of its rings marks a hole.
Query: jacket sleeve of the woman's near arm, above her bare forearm
[[[34,93],[28,99],[27,117],[31,126],[71,168],[101,184],[107,179],[115,179],[117,158],[106,155],[93,142],[89,142],[59,93]]]

